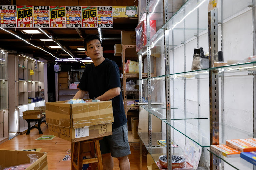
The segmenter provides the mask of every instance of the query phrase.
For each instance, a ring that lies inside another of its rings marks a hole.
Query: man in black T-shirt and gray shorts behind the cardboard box
[[[103,137],[100,141],[103,168],[112,170],[113,157],[116,157],[119,160],[120,170],[128,170],[130,162],[127,155],[131,154],[131,151],[128,143],[127,119],[121,93],[119,67],[114,61],[103,57],[102,43],[97,35],[86,36],[84,48],[85,54],[91,58],[93,63],[86,66],[78,85],[79,91],[74,99],[83,98],[88,91],[91,100],[87,102],[91,102],[92,99],[112,100],[113,134]]]

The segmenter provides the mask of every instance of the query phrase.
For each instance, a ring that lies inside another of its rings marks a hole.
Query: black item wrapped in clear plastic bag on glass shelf
[[[194,49],[194,56],[192,61],[192,70],[200,70],[209,68],[209,58],[204,55],[203,48]]]

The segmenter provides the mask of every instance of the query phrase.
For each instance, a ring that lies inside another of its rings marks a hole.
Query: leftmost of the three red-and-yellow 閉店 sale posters
[[[33,6],[17,6],[17,28],[33,28]]]

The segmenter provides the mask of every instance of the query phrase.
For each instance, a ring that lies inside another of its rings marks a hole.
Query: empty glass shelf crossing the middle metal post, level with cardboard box
[[[154,106],[154,105],[153,105]],[[148,109],[147,105],[141,105],[146,111],[150,112],[157,118],[161,120],[166,120],[166,109],[165,108],[158,108],[158,109]],[[207,117],[203,117],[191,112],[185,112],[182,109],[178,108],[171,108],[171,120],[181,120],[181,119],[208,119]],[[186,116],[185,116],[186,115]]]

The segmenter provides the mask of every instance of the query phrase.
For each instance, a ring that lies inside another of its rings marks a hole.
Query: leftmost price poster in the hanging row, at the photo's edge
[[[0,26],[16,27],[16,6],[0,6]]]

